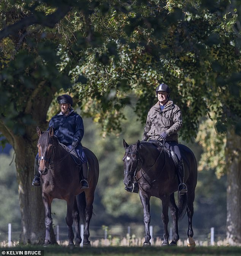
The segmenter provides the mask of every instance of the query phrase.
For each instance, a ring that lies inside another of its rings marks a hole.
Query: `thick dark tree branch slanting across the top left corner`
[[[5,27],[0,30],[0,41],[10,35],[18,35],[19,30],[24,27],[31,26],[33,24],[39,24],[47,27],[54,27],[57,22],[60,21],[67,13],[70,11],[69,5],[61,5],[59,8],[52,14],[44,16],[42,13],[35,13],[26,18],[21,19],[20,21]]]

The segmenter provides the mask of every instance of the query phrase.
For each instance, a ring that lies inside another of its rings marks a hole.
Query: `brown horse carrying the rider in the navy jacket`
[[[78,165],[54,135],[54,128],[42,132],[37,127],[39,173],[41,174],[42,199],[45,208],[45,242],[51,244],[50,228],[52,225],[51,203],[54,198],[67,202],[65,221],[68,226],[68,245],[74,245],[72,229],[75,222],[75,245],[80,245],[81,235],[79,220],[85,222],[83,245],[90,245],[89,224],[93,213],[94,192],[98,182],[99,163],[92,151],[84,147],[89,163],[88,189],[79,187]]]

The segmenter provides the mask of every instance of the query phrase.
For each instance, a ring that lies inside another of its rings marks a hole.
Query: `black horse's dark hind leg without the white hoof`
[[[177,245],[179,240],[178,235],[178,206],[176,206],[174,193],[170,195],[170,202],[169,202],[171,217],[173,219],[173,237],[170,245]]]

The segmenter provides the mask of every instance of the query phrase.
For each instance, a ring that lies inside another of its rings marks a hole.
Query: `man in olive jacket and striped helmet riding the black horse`
[[[187,186],[184,184],[184,165],[179,150],[177,132],[182,127],[182,112],[180,108],[169,100],[170,88],[161,83],[156,88],[158,102],[151,107],[147,114],[146,125],[143,132],[143,141],[162,144],[172,150],[178,157],[178,192],[187,193]],[[132,192],[138,193],[139,186],[135,182]]]

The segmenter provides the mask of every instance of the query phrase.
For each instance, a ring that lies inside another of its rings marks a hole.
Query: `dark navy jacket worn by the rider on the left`
[[[73,141],[81,142],[84,136],[83,119],[73,109],[67,116],[62,112],[53,116],[49,121],[49,128],[51,126],[54,127],[54,134],[59,141],[66,146],[70,146]]]

